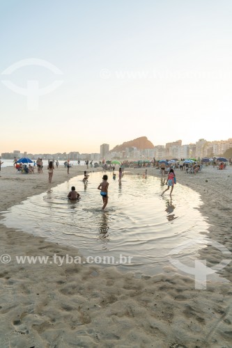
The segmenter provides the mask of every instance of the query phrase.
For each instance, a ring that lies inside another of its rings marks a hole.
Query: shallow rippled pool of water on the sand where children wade
[[[161,193],[166,180],[142,175],[123,177],[121,186],[109,176],[109,203],[102,212],[102,198],[97,189],[102,173],[91,173],[84,186],[80,177],[32,196],[3,213],[9,228],[45,237],[49,242],[74,246],[84,256],[132,256],[127,267],[152,273],[150,267],[167,262],[171,249],[187,241],[198,240],[191,250],[195,254],[204,244],[208,223],[196,209],[201,205],[199,194],[177,184],[173,197]],[[78,202],[66,197],[75,186],[81,195]],[[153,269],[152,268],[152,269]]]

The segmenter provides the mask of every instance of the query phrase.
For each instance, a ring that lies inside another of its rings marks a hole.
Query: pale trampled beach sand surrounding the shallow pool
[[[59,168],[48,184],[46,170],[20,175],[14,168],[2,168],[1,212],[84,170],[74,167],[67,175]],[[160,176],[160,171],[148,168],[148,175]],[[176,177],[173,195],[178,184],[200,193],[210,239],[231,251],[232,168],[206,167],[197,175],[176,170]],[[162,274],[141,279],[95,264],[17,264],[16,255],[75,257],[79,252],[3,224],[0,233],[0,255],[11,257],[8,264],[0,262],[0,347],[232,346],[231,264],[219,271],[228,283],[208,282],[206,290],[196,290],[194,280],[171,264]],[[208,267],[231,258],[215,246],[207,246],[200,255]]]

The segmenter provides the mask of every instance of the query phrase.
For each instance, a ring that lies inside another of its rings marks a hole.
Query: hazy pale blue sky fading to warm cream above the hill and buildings
[[[231,12],[231,0],[1,0],[0,152],[232,137]]]

